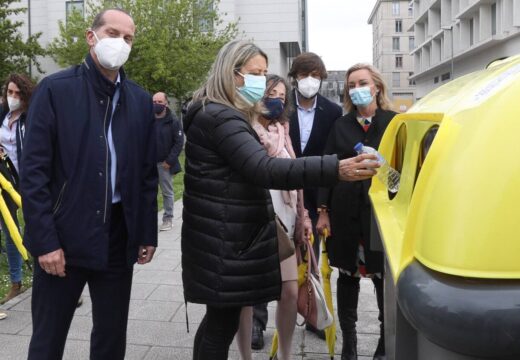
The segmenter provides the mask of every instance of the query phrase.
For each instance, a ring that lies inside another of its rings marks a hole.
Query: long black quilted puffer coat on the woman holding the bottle
[[[337,157],[271,158],[241,113],[213,103],[192,105],[184,132],[185,299],[222,307],[279,299],[274,212],[266,189],[332,186]]]

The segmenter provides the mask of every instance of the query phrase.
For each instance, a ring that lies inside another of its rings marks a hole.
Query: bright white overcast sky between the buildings
[[[309,51],[320,55],[327,70],[347,70],[372,63],[372,25],[376,0],[307,0]]]

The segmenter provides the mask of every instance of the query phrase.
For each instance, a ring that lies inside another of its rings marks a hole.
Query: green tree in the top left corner
[[[13,72],[27,73],[31,63],[42,72],[37,61],[37,56],[46,54],[38,43],[41,33],[23,39],[19,31],[23,22],[12,20],[14,16],[27,11],[23,7],[12,7],[12,4],[18,2],[20,0],[0,0],[0,79],[5,79]]]

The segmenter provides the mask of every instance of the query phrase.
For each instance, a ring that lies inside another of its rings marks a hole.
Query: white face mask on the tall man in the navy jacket
[[[94,52],[101,66],[107,70],[118,70],[128,60],[132,50],[130,45],[123,38],[106,37],[99,40],[96,33],[93,33],[97,40]]]

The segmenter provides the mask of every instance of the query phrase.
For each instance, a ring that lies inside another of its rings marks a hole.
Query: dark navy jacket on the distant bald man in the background
[[[155,127],[157,129],[157,162],[166,161],[170,165],[170,173],[177,174],[182,171],[179,162],[179,154],[184,145],[184,133],[181,122],[171,112],[166,109],[166,116],[156,118]]]

